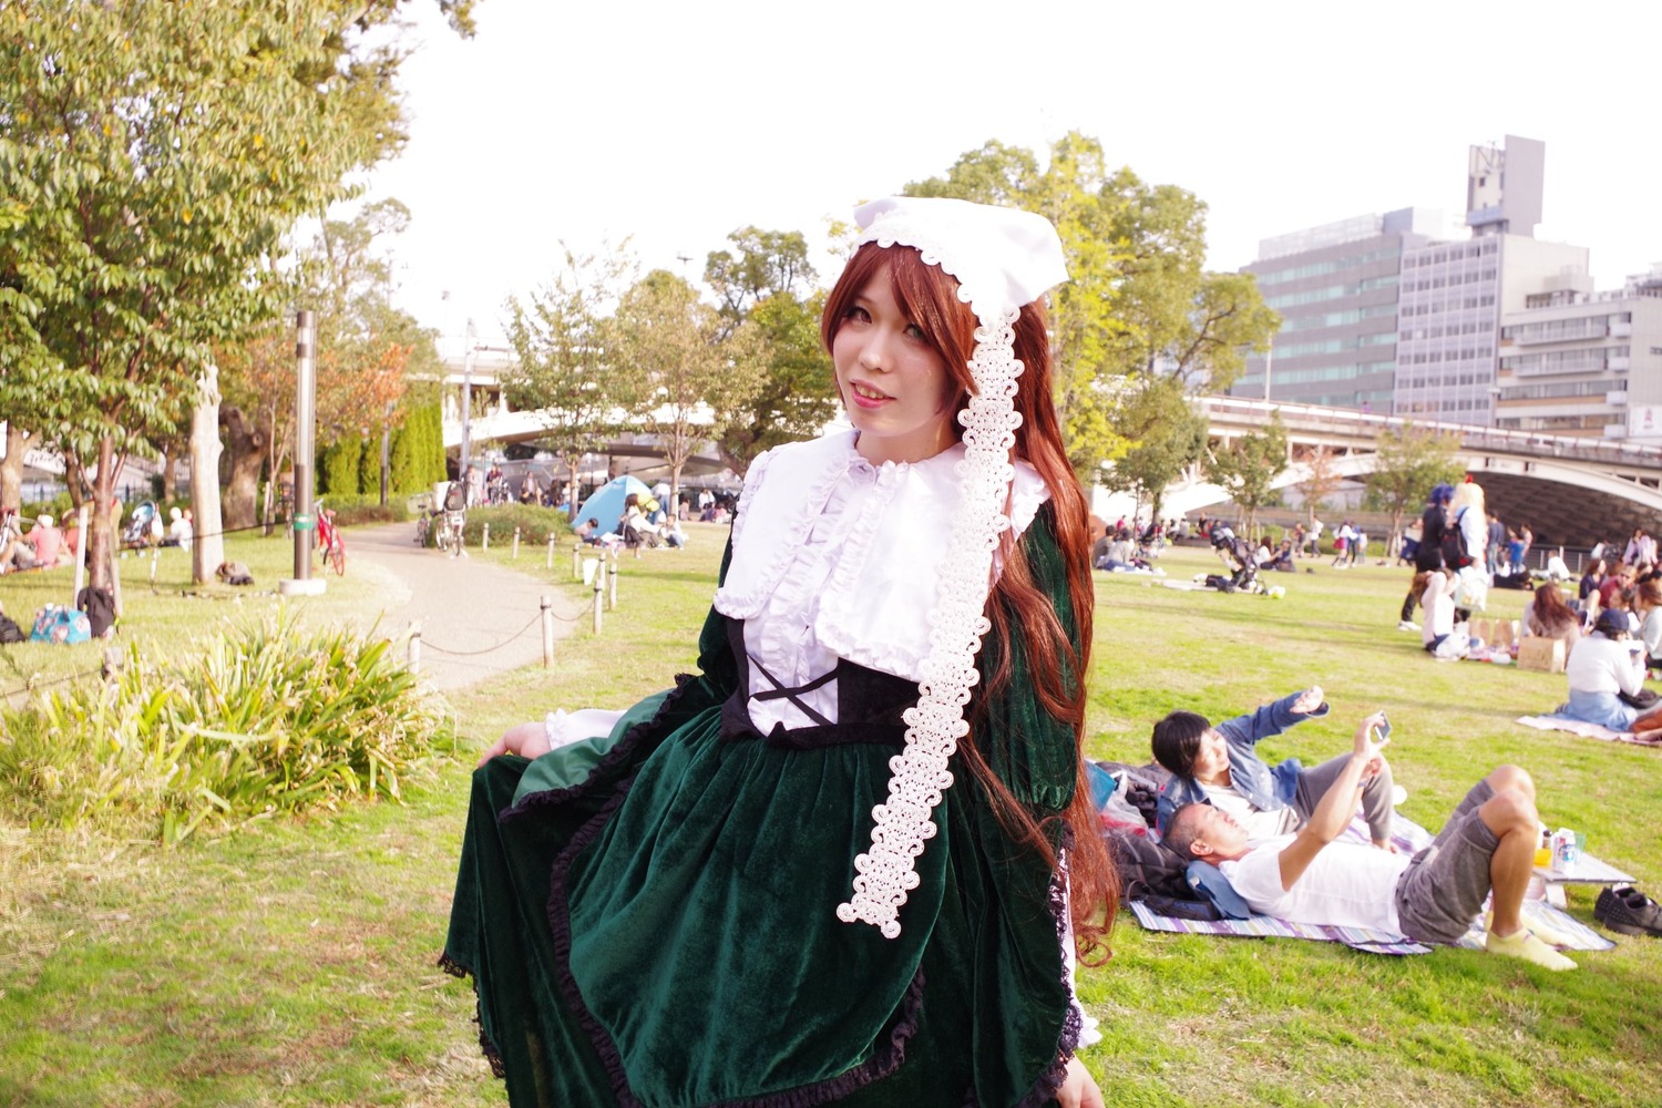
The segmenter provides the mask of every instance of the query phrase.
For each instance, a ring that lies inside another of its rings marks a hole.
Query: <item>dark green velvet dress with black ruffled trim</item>
[[[1072,636],[1049,507],[1020,543]],[[987,636],[982,673],[1004,651],[1014,679],[974,704],[972,741],[1050,817],[1072,799],[1074,736],[1034,701],[1020,641]],[[916,684],[841,663],[833,726],[760,734],[736,694],[743,625],[711,610],[698,664],[602,739],[474,776],[442,963],[474,977],[512,1103],[1052,1103],[1079,1035],[1062,879],[967,766],[901,935],[834,912]]]

